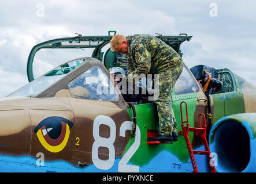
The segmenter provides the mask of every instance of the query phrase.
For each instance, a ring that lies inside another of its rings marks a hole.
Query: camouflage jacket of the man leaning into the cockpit
[[[128,74],[158,74],[181,61],[172,47],[150,34],[128,36],[127,42]]]

